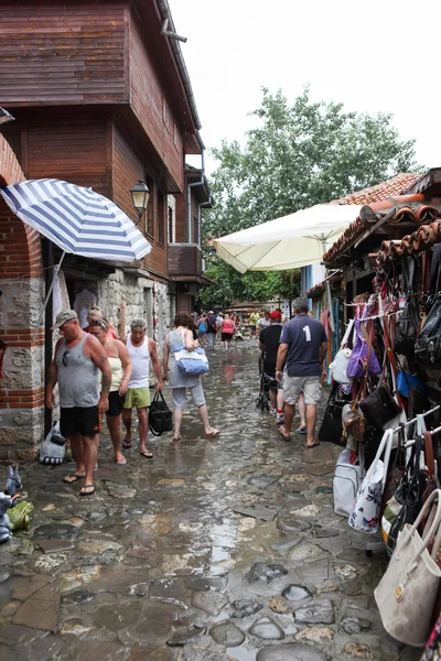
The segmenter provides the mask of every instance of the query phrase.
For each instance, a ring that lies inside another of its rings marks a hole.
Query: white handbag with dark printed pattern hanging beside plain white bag
[[[394,431],[387,430],[378,446],[377,454],[358,489],[348,523],[351,528],[374,534],[380,525],[380,508],[386,484],[387,468],[392,447]],[[381,460],[381,455],[384,460]]]

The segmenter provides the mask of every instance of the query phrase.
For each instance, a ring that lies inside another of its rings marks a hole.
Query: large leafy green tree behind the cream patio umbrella
[[[415,141],[400,139],[388,113],[345,112],[342,104],[312,101],[308,88],[292,105],[281,91],[262,95],[251,112],[259,126],[245,144],[223,141],[212,150],[218,161],[211,181],[216,206],[204,214],[205,240],[420,170]],[[244,296],[262,301],[286,288],[281,274],[240,275],[219,258],[206,274],[216,284],[203,300],[216,294],[223,305]]]

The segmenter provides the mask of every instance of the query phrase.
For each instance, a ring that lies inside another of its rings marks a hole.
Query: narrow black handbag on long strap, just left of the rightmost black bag
[[[406,286],[406,304],[395,328],[395,351],[413,356],[415,342],[420,323],[417,293],[413,285],[416,258],[409,257],[402,262],[402,275]]]

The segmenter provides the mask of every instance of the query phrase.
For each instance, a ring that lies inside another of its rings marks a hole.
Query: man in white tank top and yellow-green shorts
[[[139,452],[143,457],[151,459],[153,455],[146,447],[147,431],[149,429],[147,409],[150,407],[150,361],[158,379],[157,391],[163,388],[162,370],[158,358],[157,343],[146,335],[146,322],[143,319],[133,319],[130,324],[130,329],[131,333],[127,336],[125,344],[130,354],[132,372],[122,410],[122,422],[126,427],[126,437],[122,446],[131,446],[131,410],[136,407],[140,441]]]

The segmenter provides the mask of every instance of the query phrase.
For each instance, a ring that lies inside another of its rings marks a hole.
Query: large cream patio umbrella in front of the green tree
[[[215,239],[216,252],[239,273],[282,271],[322,261],[324,252],[358,216],[362,205],[318,204]],[[334,316],[326,280],[331,328]]]

